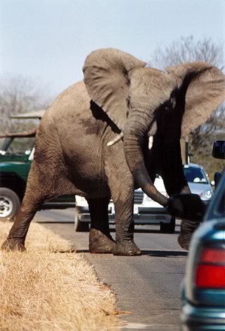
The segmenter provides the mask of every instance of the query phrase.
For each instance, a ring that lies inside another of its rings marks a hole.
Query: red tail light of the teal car
[[[195,286],[225,289],[225,249],[204,249],[195,273]]]

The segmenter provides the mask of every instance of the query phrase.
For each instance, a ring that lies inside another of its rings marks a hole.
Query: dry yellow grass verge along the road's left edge
[[[33,223],[26,247],[0,251],[0,330],[119,330],[115,296],[70,242]]]

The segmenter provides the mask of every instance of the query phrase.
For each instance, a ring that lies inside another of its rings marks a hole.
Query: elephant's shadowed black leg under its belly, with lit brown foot
[[[89,232],[89,251],[96,254],[110,254],[115,248],[115,241],[110,235],[108,224],[109,198],[88,199],[91,215]]]

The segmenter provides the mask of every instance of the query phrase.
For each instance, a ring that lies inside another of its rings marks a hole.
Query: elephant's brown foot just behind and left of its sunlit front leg
[[[108,235],[104,235],[100,230],[94,228],[89,232],[89,252],[92,254],[111,254],[115,248],[115,241]]]

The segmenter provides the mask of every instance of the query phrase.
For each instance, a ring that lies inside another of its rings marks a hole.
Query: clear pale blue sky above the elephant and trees
[[[28,77],[58,94],[82,80],[96,49],[148,62],[181,37],[225,39],[225,0],[0,0],[0,77]]]

